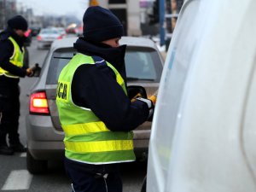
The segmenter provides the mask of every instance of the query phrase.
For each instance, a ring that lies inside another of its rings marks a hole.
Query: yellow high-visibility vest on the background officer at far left
[[[14,64],[17,67],[23,67],[23,58],[24,58],[24,52],[25,52],[24,48],[22,48],[22,51],[21,51],[19,45],[15,42],[14,38],[9,37],[9,40],[14,45],[14,54],[10,57],[9,62]],[[5,75],[9,78],[20,78],[19,76],[16,76],[4,70],[2,67],[0,67],[0,75]]]

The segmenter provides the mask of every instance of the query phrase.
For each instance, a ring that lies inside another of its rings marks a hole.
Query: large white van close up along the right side
[[[256,1],[187,0],[166,56],[147,192],[256,191]]]

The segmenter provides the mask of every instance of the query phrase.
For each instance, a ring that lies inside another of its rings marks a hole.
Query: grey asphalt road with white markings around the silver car
[[[48,50],[36,49],[36,40],[28,48],[30,66],[39,63],[42,67]],[[20,141],[26,144],[25,117],[28,113],[28,96],[30,87],[37,78],[20,79]],[[135,162],[121,166],[124,180],[124,192],[139,192],[146,174],[146,163]],[[64,192],[71,191],[70,181],[66,176],[62,162],[49,162],[49,172],[31,175],[26,171],[26,153],[12,156],[0,155],[0,191],[19,192]]]

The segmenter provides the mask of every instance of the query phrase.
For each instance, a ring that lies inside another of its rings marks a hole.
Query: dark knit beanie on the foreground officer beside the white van
[[[120,20],[113,13],[100,6],[92,6],[84,13],[83,34],[86,40],[102,42],[111,38],[121,38],[124,28]]]

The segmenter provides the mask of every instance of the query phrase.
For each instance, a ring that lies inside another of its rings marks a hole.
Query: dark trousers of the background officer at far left
[[[0,144],[17,143],[19,139],[20,87],[18,83],[4,84],[0,81]]]

